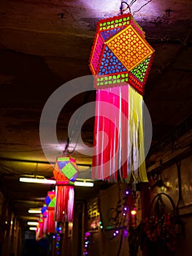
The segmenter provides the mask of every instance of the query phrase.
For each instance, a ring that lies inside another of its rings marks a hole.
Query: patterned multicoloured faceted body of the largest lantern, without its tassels
[[[94,86],[130,84],[143,95],[153,55],[145,32],[130,13],[100,20],[90,58]]]

